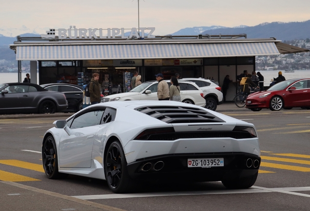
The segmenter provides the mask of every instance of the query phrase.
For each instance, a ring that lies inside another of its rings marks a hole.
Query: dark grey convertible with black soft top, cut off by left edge
[[[66,96],[37,84],[0,84],[0,113],[55,113],[68,107]]]

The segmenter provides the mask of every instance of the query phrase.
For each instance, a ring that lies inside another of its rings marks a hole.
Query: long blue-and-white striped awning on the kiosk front
[[[274,42],[17,44],[16,60],[113,60],[280,54]]]

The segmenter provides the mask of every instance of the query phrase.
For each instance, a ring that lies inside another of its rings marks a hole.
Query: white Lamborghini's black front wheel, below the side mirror
[[[64,178],[68,174],[58,172],[58,154],[53,136],[48,136],[42,145],[42,163],[49,179]]]

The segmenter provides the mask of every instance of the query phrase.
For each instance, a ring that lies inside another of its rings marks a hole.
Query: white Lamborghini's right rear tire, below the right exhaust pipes
[[[222,180],[222,184],[227,189],[248,189],[254,185],[257,179],[258,172],[252,176],[233,179],[233,180]]]

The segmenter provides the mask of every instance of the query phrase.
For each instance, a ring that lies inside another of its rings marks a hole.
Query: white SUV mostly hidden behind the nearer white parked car
[[[197,84],[197,86],[199,86],[199,88],[203,91],[203,95],[206,100],[205,108],[215,111],[217,105],[223,104],[223,93],[221,92],[221,87],[214,84],[209,79],[183,78],[178,81],[191,81]]]

